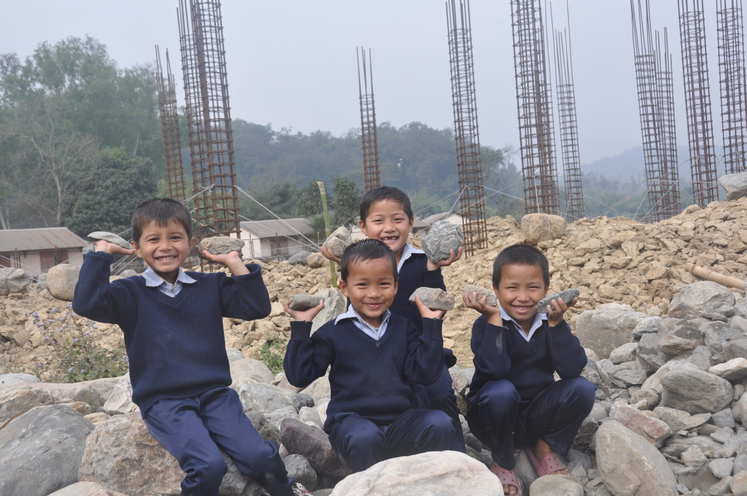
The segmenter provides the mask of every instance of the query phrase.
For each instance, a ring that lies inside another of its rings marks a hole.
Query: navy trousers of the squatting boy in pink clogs
[[[542,439],[568,455],[578,428],[594,406],[597,386],[585,377],[561,379],[533,400],[521,401],[508,379],[486,382],[467,406],[471,432],[492,451],[498,465],[514,468],[514,449]]]

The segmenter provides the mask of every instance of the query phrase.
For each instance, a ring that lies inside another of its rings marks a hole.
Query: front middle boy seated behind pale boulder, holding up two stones
[[[391,313],[397,260],[382,241],[363,240],[342,255],[340,290],[350,309],[311,332],[324,302],[291,310],[285,376],[303,388],[329,371],[330,400],[324,431],[335,453],[354,472],[395,456],[450,449],[453,426],[444,412],[412,409],[412,382],[431,384],[444,364],[442,311],[420,298],[421,331]]]

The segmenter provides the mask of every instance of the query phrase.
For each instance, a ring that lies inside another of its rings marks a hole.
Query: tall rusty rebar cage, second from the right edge
[[[713,121],[703,0],[678,0],[677,8],[680,19],[692,196],[695,203],[705,207],[709,202],[719,199],[719,188],[716,183],[716,155],[713,152]]]

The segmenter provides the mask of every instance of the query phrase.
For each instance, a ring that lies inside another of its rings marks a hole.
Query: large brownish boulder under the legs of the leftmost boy
[[[226,453],[223,459],[229,471],[220,483],[220,495],[261,495],[261,487],[241,475]],[[78,469],[79,480],[128,496],[179,495],[184,477],[179,463],[152,438],[138,414],[117,415],[99,424],[86,439]]]

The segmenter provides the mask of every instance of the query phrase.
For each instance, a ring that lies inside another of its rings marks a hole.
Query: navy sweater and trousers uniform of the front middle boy
[[[441,320],[421,319],[421,332],[409,320],[389,314],[376,339],[353,318],[341,317],[314,335],[310,322],[291,322],[283,361],[288,382],[298,388],[331,365],[324,431],[335,453],[358,472],[394,456],[450,449],[450,418],[411,404],[412,383],[432,384],[441,374]]]

